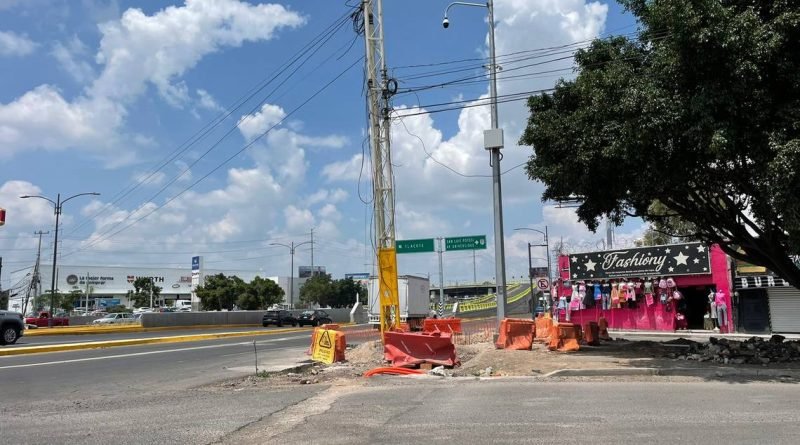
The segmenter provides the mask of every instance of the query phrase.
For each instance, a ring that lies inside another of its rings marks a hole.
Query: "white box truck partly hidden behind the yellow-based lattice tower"
[[[430,313],[430,282],[427,278],[403,275],[397,279],[400,294],[400,321],[408,323],[411,329],[420,329],[422,320]],[[379,327],[381,306],[378,302],[378,278],[369,279],[369,324]]]

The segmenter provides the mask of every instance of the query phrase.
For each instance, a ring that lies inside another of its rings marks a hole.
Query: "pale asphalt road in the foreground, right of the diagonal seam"
[[[796,444],[798,397],[782,383],[395,377],[332,387],[224,443]]]

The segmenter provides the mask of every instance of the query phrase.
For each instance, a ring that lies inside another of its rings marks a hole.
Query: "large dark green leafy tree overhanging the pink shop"
[[[619,0],[637,39],[595,40],[531,97],[521,143],[545,200],[596,230],[678,217],[800,287],[800,19],[793,2]],[[669,211],[650,212],[654,202]]]

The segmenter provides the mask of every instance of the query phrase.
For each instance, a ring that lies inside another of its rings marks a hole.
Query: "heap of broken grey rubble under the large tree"
[[[708,343],[691,342],[685,354],[670,354],[678,360],[715,362],[723,364],[768,365],[800,361],[800,341],[785,341],[781,335],[769,340],[751,337],[745,341],[711,337]]]

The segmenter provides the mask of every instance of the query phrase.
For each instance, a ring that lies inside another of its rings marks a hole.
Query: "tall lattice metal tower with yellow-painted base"
[[[366,44],[367,108],[372,155],[372,190],[375,211],[375,246],[378,257],[378,299],[381,336],[400,327],[400,302],[397,289],[395,251],[394,174],[389,141],[391,120],[389,103],[397,92],[397,81],[389,78],[383,46],[383,4],[381,0],[362,0]]]

